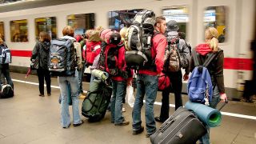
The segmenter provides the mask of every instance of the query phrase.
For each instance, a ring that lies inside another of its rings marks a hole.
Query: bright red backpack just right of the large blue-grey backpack
[[[92,66],[97,56],[96,50],[101,48],[101,42],[86,42],[86,65]]]

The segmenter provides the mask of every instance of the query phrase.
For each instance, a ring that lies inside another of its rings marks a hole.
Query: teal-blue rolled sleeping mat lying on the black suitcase
[[[219,126],[222,122],[222,114],[219,112],[219,110],[215,110],[210,106],[189,101],[186,102],[185,108],[186,110],[193,110],[200,121],[210,127]]]

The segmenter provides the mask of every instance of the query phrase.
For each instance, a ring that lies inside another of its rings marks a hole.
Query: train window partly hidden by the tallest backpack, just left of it
[[[109,27],[114,30],[121,30],[122,27],[129,27],[134,21],[134,16],[143,9],[109,11]]]

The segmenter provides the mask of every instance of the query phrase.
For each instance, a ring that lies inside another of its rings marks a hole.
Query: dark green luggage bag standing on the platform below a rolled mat
[[[110,103],[112,88],[101,80],[90,84],[90,91],[82,102],[82,115],[89,118],[89,122],[98,122],[104,118]]]

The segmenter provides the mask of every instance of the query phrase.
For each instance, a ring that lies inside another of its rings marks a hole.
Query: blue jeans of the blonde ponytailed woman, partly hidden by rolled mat
[[[218,102],[220,102],[220,94],[218,91],[218,87],[214,87],[214,94],[210,102],[210,107],[216,108],[218,105]],[[206,125],[207,133],[202,136],[202,138],[199,139],[199,143],[203,144],[210,144],[210,127]]]

